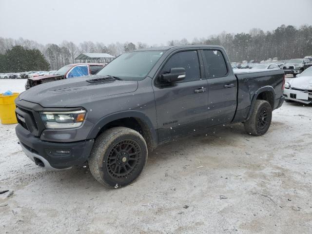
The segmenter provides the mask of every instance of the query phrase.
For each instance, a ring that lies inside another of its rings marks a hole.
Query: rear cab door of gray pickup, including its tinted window
[[[236,110],[236,77],[221,50],[204,49],[201,54],[205,65],[205,78],[208,81],[207,126],[229,123]]]

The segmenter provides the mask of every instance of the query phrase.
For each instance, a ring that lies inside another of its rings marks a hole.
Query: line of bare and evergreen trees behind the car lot
[[[118,56],[124,52],[147,47],[186,44],[222,45],[231,61],[266,60],[274,57],[278,59],[303,58],[312,55],[312,25],[303,25],[299,28],[292,25],[281,25],[273,31],[267,32],[258,28],[251,29],[249,33],[231,34],[222,32],[208,38],[195,38],[192,41],[187,39],[170,40],[167,44],[159,45],[148,45],[143,42],[104,44],[92,41],[84,41],[77,45],[66,40],[60,44],[43,45],[28,39],[0,37],[0,72],[4,72],[3,67],[5,67],[5,71],[13,69],[21,71],[20,69],[25,68],[25,66],[16,65],[23,59],[16,59],[16,57],[21,58],[21,55],[16,54],[17,49],[13,49],[15,46],[20,46],[24,50],[22,51],[24,54],[30,53],[29,59],[31,60],[29,63],[38,66],[37,69],[28,69],[30,66],[27,66],[28,70],[47,70],[43,69],[47,67],[46,63],[42,61],[42,57],[49,65],[49,69],[57,70],[65,64],[75,63],[75,58],[80,53],[108,53]],[[21,50],[20,47],[18,50]]]

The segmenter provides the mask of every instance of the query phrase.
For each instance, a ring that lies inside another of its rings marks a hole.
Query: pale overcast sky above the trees
[[[0,0],[0,37],[39,43],[192,41],[312,24],[312,0]]]

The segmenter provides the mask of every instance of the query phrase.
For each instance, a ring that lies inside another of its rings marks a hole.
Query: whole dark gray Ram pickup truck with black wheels
[[[89,164],[119,188],[141,173],[148,151],[217,125],[244,123],[261,136],[283,101],[280,69],[234,74],[220,46],[188,45],[125,53],[96,76],[40,84],[16,99],[16,134],[46,169]]]

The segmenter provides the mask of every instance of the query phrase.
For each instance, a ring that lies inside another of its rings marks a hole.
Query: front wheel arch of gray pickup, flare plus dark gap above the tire
[[[156,148],[158,137],[149,117],[138,111],[124,111],[102,117],[92,128],[88,138],[96,138],[100,133],[112,127],[128,127],[139,132],[149,149]]]

